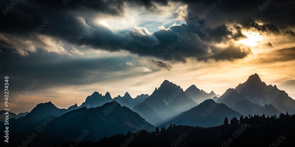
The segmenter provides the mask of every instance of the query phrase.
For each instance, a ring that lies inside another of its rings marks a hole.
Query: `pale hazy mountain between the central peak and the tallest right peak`
[[[187,97],[191,98],[196,103],[202,103],[207,99],[212,99],[214,96],[217,96],[213,91],[211,91],[210,93],[206,93],[205,91],[197,88],[195,85],[187,88],[184,93]]]

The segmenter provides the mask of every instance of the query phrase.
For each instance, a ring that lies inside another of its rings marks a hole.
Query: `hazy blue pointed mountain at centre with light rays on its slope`
[[[183,89],[165,80],[160,87],[132,110],[154,125],[159,125],[198,104]]]

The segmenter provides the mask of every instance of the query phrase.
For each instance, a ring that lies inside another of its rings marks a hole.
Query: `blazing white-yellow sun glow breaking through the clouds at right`
[[[243,31],[242,33],[247,36],[247,39],[237,41],[240,44],[245,44],[246,46],[256,46],[260,41],[262,41],[262,36],[260,36],[259,33],[246,31]]]

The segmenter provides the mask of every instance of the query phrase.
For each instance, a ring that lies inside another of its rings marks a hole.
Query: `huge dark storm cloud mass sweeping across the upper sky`
[[[154,5],[155,1],[132,1],[134,5],[142,5],[151,11],[158,11]],[[167,4],[167,1],[158,1],[161,5]],[[259,6],[263,1],[186,1],[190,15],[186,18],[187,24],[182,26],[172,26],[171,30],[160,30],[153,34],[147,33],[143,29],[135,28],[127,32],[113,33],[110,29],[103,26],[96,26],[94,16],[105,13],[106,9],[115,3],[112,15],[121,15],[124,13],[123,1],[70,1],[64,4],[63,1],[19,1],[8,13],[0,15],[3,20],[0,24],[0,48],[14,49],[12,38],[18,36],[28,38],[30,35],[36,35],[36,27],[42,25],[44,20],[49,21],[47,26],[42,27],[41,34],[53,36],[55,39],[62,39],[69,43],[75,40],[81,32],[87,34],[85,39],[81,40],[78,46],[87,45],[95,49],[104,49],[108,51],[118,51],[121,49],[130,51],[133,54],[142,56],[155,56],[162,60],[175,59],[185,62],[185,58],[193,57],[198,60],[207,60],[212,58],[212,45],[209,42],[220,43],[226,41],[227,36],[238,40],[245,38],[241,33],[242,28],[256,28],[262,32],[281,32],[286,24],[293,25],[294,19],[287,14],[292,14],[294,2],[272,1],[271,4],[261,12]],[[206,16],[200,19],[202,10],[208,9],[212,3],[217,6]],[[220,3],[219,3],[220,2]],[[0,2],[0,9],[6,10],[6,5],[11,1],[4,0]],[[66,5],[66,6],[65,6]],[[106,8],[106,9],[105,9]],[[287,12],[288,13],[284,13]],[[20,13],[22,12],[22,13]],[[271,17],[271,18],[270,18]],[[85,20],[83,20],[85,19]],[[217,27],[212,27],[207,20],[213,22],[222,22]],[[266,24],[259,25],[254,20],[261,20]],[[224,22],[238,22],[242,27],[235,26],[237,33],[231,32]],[[90,23],[88,23],[90,22]],[[283,24],[285,22],[285,24]],[[282,24],[281,24],[282,23]],[[142,35],[142,32],[145,35]],[[284,30],[286,34],[294,34],[292,30]],[[39,33],[39,32],[38,32]],[[34,41],[39,41],[34,39]],[[208,42],[207,42],[208,41]],[[10,45],[9,45],[10,44]],[[119,48],[118,48],[119,47]],[[238,47],[230,46],[221,54],[217,60],[233,60],[247,56],[250,51],[244,51]],[[166,67],[165,67],[166,68]]]

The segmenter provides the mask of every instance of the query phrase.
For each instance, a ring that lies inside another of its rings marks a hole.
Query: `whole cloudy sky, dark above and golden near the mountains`
[[[0,77],[9,76],[14,113],[48,101],[79,106],[94,91],[150,95],[164,80],[222,95],[255,73],[295,99],[294,6],[286,0],[3,0]]]

